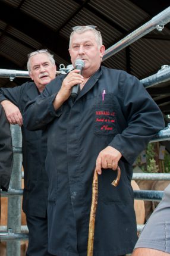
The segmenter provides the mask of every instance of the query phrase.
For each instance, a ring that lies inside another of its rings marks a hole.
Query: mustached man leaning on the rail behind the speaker
[[[1,88],[0,101],[8,121],[19,124],[23,135],[24,193],[23,211],[29,228],[27,256],[50,255],[48,248],[47,197],[48,176],[45,171],[45,130],[30,132],[23,126],[23,110],[26,103],[42,93],[56,76],[53,55],[47,49],[28,55],[27,68],[33,82],[15,88]]]

